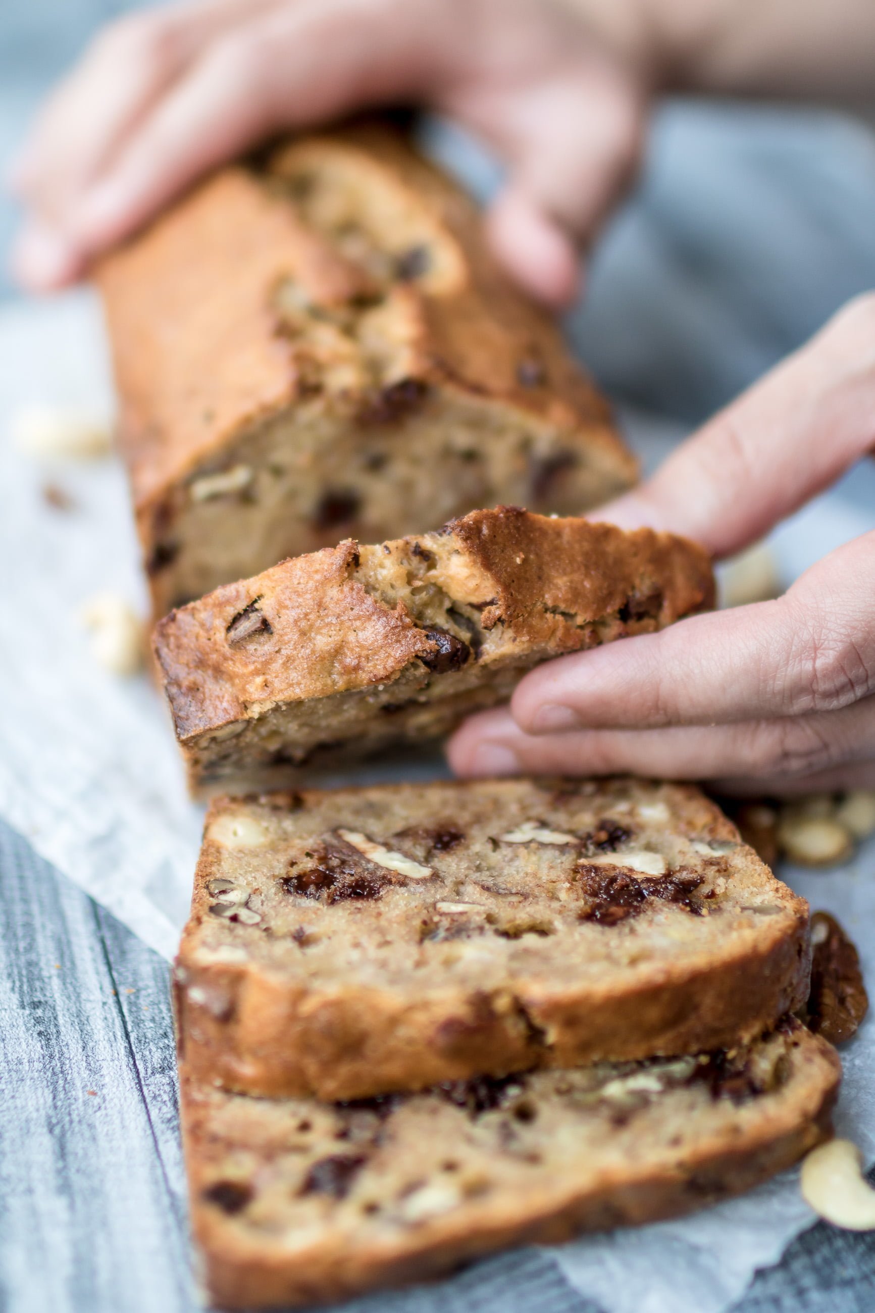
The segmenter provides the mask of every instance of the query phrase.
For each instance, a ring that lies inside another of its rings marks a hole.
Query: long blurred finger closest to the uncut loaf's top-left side
[[[224,159],[279,127],[412,92],[430,58],[401,0],[302,0],[214,43],[126,144],[72,228],[85,251],[126,235]]]

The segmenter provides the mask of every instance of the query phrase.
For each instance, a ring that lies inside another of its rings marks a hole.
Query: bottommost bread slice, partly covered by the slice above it
[[[701,1208],[826,1138],[840,1077],[834,1049],[791,1022],[732,1054],[345,1106],[184,1081],[209,1293],[230,1309],[327,1302]]]

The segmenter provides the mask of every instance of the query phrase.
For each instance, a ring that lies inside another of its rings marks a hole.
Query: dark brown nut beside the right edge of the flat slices
[[[811,993],[803,1020],[830,1044],[855,1033],[868,1010],[868,995],[854,944],[834,916],[811,918]]]

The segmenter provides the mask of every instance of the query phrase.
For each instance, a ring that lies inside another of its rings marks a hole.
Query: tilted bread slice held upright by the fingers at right
[[[701,548],[514,507],[437,533],[341,542],[172,612],[155,651],[198,792],[446,734],[560,653],[712,601]]]

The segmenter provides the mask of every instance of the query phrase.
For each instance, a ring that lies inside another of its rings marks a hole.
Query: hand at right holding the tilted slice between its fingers
[[[623,528],[729,555],[875,450],[875,294],[711,420],[648,483],[605,508]],[[632,772],[727,793],[875,786],[875,532],[777,601],[531,671],[510,709],[454,735],[459,775]]]

